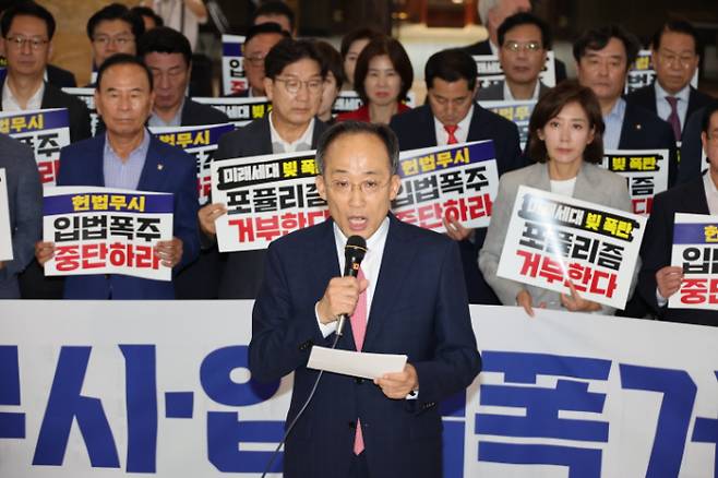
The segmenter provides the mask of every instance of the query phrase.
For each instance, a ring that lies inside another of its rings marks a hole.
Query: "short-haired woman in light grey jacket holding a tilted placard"
[[[501,250],[519,186],[567,195],[594,204],[631,212],[626,181],[601,169],[603,119],[594,93],[575,81],[549,91],[534,109],[529,122],[528,156],[531,166],[501,177],[491,224],[479,254],[479,268],[506,306],[522,306],[612,314],[613,309],[586,300],[566,280],[571,294],[560,294],[496,276]]]

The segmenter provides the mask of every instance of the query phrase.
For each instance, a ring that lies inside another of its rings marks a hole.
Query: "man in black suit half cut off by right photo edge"
[[[675,213],[718,215],[718,103],[706,107],[701,140],[710,163],[703,177],[660,193],[646,226],[638,276],[638,290],[660,320],[718,325],[718,312],[696,309],[668,309],[668,299],[683,280],[683,268],[671,266]]]

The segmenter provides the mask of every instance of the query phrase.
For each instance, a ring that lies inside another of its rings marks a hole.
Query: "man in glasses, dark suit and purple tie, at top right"
[[[673,128],[675,141],[681,141],[689,117],[710,103],[710,96],[691,86],[701,61],[698,33],[683,20],[670,20],[654,35],[651,58],[656,69],[654,84],[625,97],[657,113]]]

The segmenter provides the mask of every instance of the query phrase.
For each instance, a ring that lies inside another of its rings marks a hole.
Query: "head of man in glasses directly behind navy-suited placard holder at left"
[[[111,3],[97,11],[87,21],[94,69],[115,53],[136,55],[136,40],[143,33],[142,17],[123,4]]]

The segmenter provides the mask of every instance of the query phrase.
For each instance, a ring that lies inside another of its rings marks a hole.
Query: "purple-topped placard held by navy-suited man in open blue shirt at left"
[[[124,274],[170,280],[155,251],[172,238],[170,193],[110,188],[47,188],[43,240],[55,243],[45,275]]]

